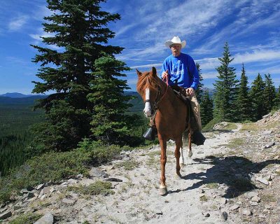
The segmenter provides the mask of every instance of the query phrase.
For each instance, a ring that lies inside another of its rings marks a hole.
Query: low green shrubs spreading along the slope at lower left
[[[0,179],[0,203],[10,200],[13,194],[27,186],[57,182],[77,174],[87,175],[87,165],[109,162],[123,150],[120,146],[104,146],[88,139],[79,146],[80,148],[69,152],[50,152],[36,156],[13,169],[9,176]]]

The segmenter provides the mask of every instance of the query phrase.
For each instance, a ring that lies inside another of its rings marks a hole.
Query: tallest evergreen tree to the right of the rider
[[[237,83],[235,69],[230,66],[234,58],[230,55],[228,42],[225,43],[223,57],[219,58],[221,66],[218,66],[218,80],[214,86],[214,116],[221,120],[233,121],[237,118],[236,98]]]

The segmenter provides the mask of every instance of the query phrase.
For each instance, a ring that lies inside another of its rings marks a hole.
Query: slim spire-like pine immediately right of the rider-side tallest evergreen
[[[248,96],[248,77],[242,64],[241,77],[237,90],[237,109],[239,121],[251,119],[251,99]]]

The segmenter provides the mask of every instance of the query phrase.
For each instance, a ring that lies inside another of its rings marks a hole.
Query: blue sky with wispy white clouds
[[[30,94],[32,80],[38,80],[38,64],[31,62],[41,45],[43,16],[50,15],[45,0],[3,0],[0,4],[0,94]],[[102,8],[120,13],[122,19],[109,27],[116,32],[112,45],[125,48],[117,58],[133,70],[127,83],[135,90],[135,69],[157,69],[170,50],[165,41],[173,36],[186,40],[186,52],[199,62],[205,87],[213,87],[225,41],[235,60],[237,78],[244,63],[251,83],[258,73],[270,73],[280,85],[280,1],[279,0],[109,0]],[[51,46],[55,49],[56,46]]]

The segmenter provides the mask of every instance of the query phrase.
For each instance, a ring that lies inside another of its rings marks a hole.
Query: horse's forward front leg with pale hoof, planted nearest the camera
[[[158,135],[158,141],[160,141],[160,169],[161,169],[161,175],[160,175],[160,195],[166,195],[167,194],[167,186],[165,184],[165,165],[167,162],[167,155],[166,155],[166,149],[167,149],[167,139],[165,137],[162,137],[160,134]]]

